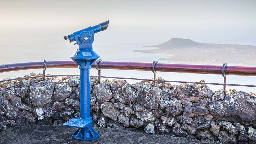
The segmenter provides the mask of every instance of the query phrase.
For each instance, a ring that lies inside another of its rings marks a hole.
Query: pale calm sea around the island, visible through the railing
[[[52,36],[55,37],[55,36]],[[1,38],[1,37],[0,37]],[[3,39],[4,37],[2,37]],[[69,56],[76,50],[76,46],[58,39],[29,39],[29,37],[22,37],[13,43],[10,39],[5,39],[6,43],[0,44],[1,64],[20,63],[20,62],[33,62],[41,61],[57,61],[57,60],[70,60]],[[10,43],[12,44],[10,44]],[[99,54],[103,61],[119,61],[119,62],[153,62],[159,58],[165,58],[165,54],[148,54],[141,52],[133,52],[133,50],[153,49],[152,47],[142,47],[152,45],[152,43],[107,43],[99,44],[93,43],[93,50]],[[159,61],[159,63],[169,63]],[[178,63],[178,62],[177,62]],[[221,65],[221,64],[220,64]],[[0,79],[15,78],[28,75],[31,72],[42,73],[42,69],[23,70],[0,73]],[[79,75],[79,69],[47,69],[46,73],[52,75]],[[91,75],[97,75],[96,69],[91,69]],[[133,77],[133,78],[153,78],[151,71],[129,71],[129,70],[101,70],[102,76],[113,77]],[[170,73],[170,72],[157,72],[157,77],[162,77],[165,80],[174,81],[191,81],[198,82],[205,80],[205,82],[223,83],[222,75],[212,74],[190,74],[190,73]],[[127,80],[129,83],[137,82],[136,80]],[[256,77],[250,76],[227,76],[228,84],[249,84],[255,85]],[[178,85],[179,83],[171,83]],[[223,86],[208,85],[213,91],[223,88]],[[245,92],[256,93],[256,88],[227,86],[227,90],[236,89]]]

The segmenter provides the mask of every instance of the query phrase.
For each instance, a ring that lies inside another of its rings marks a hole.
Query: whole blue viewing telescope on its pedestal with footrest
[[[75,45],[79,45],[70,58],[80,69],[80,117],[63,124],[63,126],[78,128],[72,134],[72,138],[76,140],[91,141],[99,137],[99,134],[92,129],[93,120],[90,116],[90,69],[93,62],[99,58],[99,55],[93,51],[92,43],[94,34],[106,30],[108,22],[90,26],[64,37],[65,40],[69,40],[69,43],[76,41]]]

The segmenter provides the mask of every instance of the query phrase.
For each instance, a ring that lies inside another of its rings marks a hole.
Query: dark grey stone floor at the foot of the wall
[[[100,137],[93,141],[76,141],[71,134],[76,128],[64,126],[24,126],[19,129],[9,128],[0,132],[1,144],[211,144],[205,141],[174,137],[170,135],[146,134],[144,132],[132,132],[126,130],[115,130],[100,128]]]

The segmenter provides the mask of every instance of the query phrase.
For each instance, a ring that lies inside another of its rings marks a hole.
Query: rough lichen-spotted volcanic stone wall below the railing
[[[35,73],[30,73],[35,76]],[[157,78],[161,79],[161,77]],[[200,81],[204,82],[204,81]],[[216,143],[256,143],[256,94],[204,84],[91,79],[93,126],[172,134]],[[61,125],[80,116],[79,77],[0,83],[0,130]]]

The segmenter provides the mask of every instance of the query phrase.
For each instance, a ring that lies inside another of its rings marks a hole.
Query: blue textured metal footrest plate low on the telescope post
[[[75,127],[75,128],[85,128],[87,126],[91,126],[93,124],[93,120],[91,118],[89,119],[82,119],[80,117],[78,118],[73,118],[64,124],[63,126],[70,126],[70,127]]]

